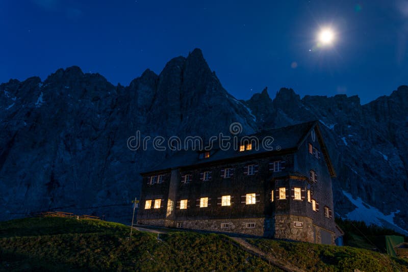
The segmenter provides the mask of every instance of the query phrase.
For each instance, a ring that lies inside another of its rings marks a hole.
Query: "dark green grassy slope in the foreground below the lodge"
[[[57,217],[0,222],[0,270],[281,271],[225,235],[160,234],[121,224]],[[275,259],[310,271],[408,271],[408,262],[350,247],[246,239]]]

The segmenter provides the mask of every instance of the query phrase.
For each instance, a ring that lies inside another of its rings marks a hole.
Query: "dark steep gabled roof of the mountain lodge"
[[[198,156],[198,152],[194,150],[178,151],[166,161],[161,162],[159,165],[153,167],[148,172],[141,173],[141,175],[149,174],[151,172],[167,171],[174,168],[207,165],[213,162],[215,163],[225,160],[239,160],[243,158],[262,156],[265,154],[295,152],[299,149],[305,139],[307,139],[309,133],[311,133],[311,131],[315,128],[317,128],[315,131],[317,133],[319,143],[322,147],[322,153],[327,162],[330,175],[334,176],[335,172],[333,166],[331,165],[326,146],[323,143],[323,138],[318,126],[318,121],[262,130],[258,133],[239,137],[238,146],[244,137],[248,139],[256,137],[259,140],[260,144],[258,148],[254,147],[252,150],[246,150],[244,152],[239,152],[234,148],[233,140],[229,141],[229,143],[231,144],[231,148],[225,150],[220,146],[213,148],[211,150],[211,155],[209,158],[200,159]],[[270,137],[273,138],[273,142],[268,145],[268,147],[272,147],[272,150],[262,145],[262,142],[264,141],[264,139],[266,140],[267,137],[269,137],[268,139],[270,139]]]

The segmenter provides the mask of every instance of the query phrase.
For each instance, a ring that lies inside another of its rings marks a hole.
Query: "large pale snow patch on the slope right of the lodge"
[[[375,224],[387,228],[390,228],[391,224],[396,231],[401,232],[405,235],[408,234],[408,231],[398,227],[394,223],[394,216],[395,214],[400,212],[399,210],[391,212],[391,214],[389,215],[385,215],[384,213],[380,212],[377,208],[372,207],[367,203],[363,202],[361,198],[354,199],[350,193],[347,193],[345,191],[343,191],[343,195],[346,196],[348,200],[356,206],[354,210],[346,214],[347,219],[364,221],[368,225]]]

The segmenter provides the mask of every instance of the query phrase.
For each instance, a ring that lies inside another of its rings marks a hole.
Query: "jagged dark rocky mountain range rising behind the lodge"
[[[239,101],[199,49],[170,60],[159,75],[146,70],[127,87],[79,67],[59,69],[44,81],[10,80],[0,85],[0,220],[58,209],[129,221],[139,172],[171,155],[151,145],[127,148],[137,131],[166,140],[208,139],[228,133],[233,122],[244,134],[317,119],[338,174],[338,215],[374,212],[375,223],[405,228],[407,113],[406,86],[366,105],[356,96],[301,99],[285,88],[273,100],[265,89]]]

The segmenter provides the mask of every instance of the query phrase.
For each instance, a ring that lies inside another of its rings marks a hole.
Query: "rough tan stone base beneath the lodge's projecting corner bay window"
[[[301,222],[302,227],[295,227],[295,222]],[[275,238],[291,239],[304,242],[315,242],[315,229],[309,217],[295,215],[275,216]]]

